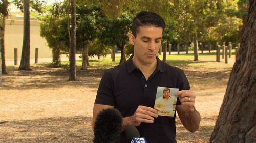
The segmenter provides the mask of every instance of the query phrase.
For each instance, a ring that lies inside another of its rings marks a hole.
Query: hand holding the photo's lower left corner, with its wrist
[[[157,110],[151,107],[138,106],[134,115],[123,118],[126,125],[139,126],[141,122],[153,123],[154,119],[157,118]]]

